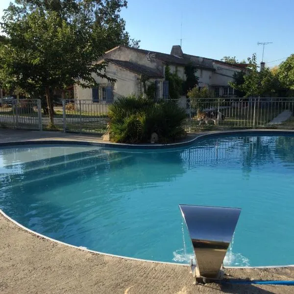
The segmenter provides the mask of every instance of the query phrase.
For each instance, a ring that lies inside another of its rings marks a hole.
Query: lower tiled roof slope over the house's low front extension
[[[116,64],[133,73],[143,74],[147,77],[164,78],[164,76],[161,73],[157,72],[155,69],[148,68],[147,66],[140,65],[138,63],[110,58],[106,58],[104,60]]]

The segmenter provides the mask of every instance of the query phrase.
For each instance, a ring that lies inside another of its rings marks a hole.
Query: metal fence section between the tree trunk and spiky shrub
[[[63,100],[63,131],[103,134],[107,127],[108,106],[92,100]]]

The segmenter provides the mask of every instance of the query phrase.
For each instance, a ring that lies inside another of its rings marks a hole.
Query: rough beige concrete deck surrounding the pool
[[[200,134],[203,133],[196,136]],[[93,136],[0,129],[0,143],[27,140],[102,142]],[[240,278],[294,280],[294,267],[226,269],[225,272]],[[0,293],[290,294],[294,293],[294,288],[270,285],[195,286],[189,267],[80,250],[30,233],[0,214]]]

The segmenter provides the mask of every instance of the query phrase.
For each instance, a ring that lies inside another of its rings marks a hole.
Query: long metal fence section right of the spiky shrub
[[[185,128],[190,131],[294,126],[294,98],[199,98],[179,105],[187,112]]]

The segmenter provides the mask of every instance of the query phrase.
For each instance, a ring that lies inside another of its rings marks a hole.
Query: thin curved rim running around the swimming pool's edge
[[[123,149],[129,148],[129,149],[168,149],[168,148],[174,148],[174,147],[185,147],[192,145],[195,141],[201,140],[203,138],[211,138],[211,137],[218,137],[221,135],[236,135],[236,134],[254,134],[254,133],[276,133],[280,135],[285,135],[285,134],[293,134],[294,135],[294,130],[276,130],[276,129],[246,129],[246,130],[229,130],[229,131],[215,131],[215,132],[208,132],[204,134],[200,134],[193,138],[192,140],[186,141],[186,142],[180,142],[180,143],[172,143],[172,144],[157,144],[157,145],[131,145],[131,144],[120,144],[120,143],[101,143],[101,142],[95,142],[95,141],[70,141],[70,140],[31,140],[31,141],[11,141],[11,142],[2,142],[0,143],[0,147],[6,147],[6,146],[13,146],[13,145],[42,145],[42,144],[69,144],[69,145],[85,145],[85,146],[98,146],[98,147],[112,147],[112,148],[120,148],[122,147]],[[176,146],[175,146],[176,145]],[[188,264],[180,264],[180,263],[172,263],[172,262],[163,262],[163,261],[155,261],[155,260],[148,260],[148,259],[140,259],[140,258],[134,258],[134,257],[127,257],[127,256],[122,256],[122,255],[115,255],[115,254],[110,254],[110,253],[104,253],[104,252],[99,252],[95,250],[88,249],[86,247],[79,247],[75,246],[69,243],[65,243],[53,238],[50,238],[48,236],[42,235],[40,233],[37,233],[24,225],[20,224],[19,222],[13,220],[10,218],[8,215],[6,215],[1,209],[0,209],[0,214],[8,221],[13,222],[16,224],[18,227],[21,229],[25,230],[28,233],[31,233],[35,236],[39,236],[41,238],[44,238],[49,241],[53,241],[55,243],[61,244],[61,245],[66,245],[75,249],[79,249],[82,251],[94,253],[94,254],[100,254],[100,255],[106,255],[114,258],[123,258],[123,259],[129,259],[129,260],[134,260],[134,261],[139,261],[139,262],[148,262],[148,263],[156,263],[156,264],[167,264],[167,265],[173,265],[173,266],[185,266],[185,267],[190,267]],[[279,268],[293,268],[293,265],[281,265],[281,266],[257,266],[257,267],[223,267],[223,269],[279,269]]]

